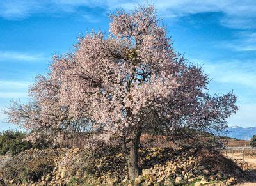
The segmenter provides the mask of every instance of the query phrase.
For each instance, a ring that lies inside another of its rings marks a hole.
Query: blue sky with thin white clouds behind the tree
[[[51,56],[72,50],[77,36],[108,31],[108,14],[145,1],[1,0],[0,110],[26,102],[28,85]],[[256,1],[148,1],[155,4],[174,47],[204,66],[211,93],[234,90],[239,111],[229,125],[256,126]],[[0,111],[0,130],[15,128]]]

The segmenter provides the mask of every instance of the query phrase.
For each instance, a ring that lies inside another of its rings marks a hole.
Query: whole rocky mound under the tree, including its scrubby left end
[[[0,158],[0,177],[5,183],[30,184],[116,184],[128,179],[125,158],[115,148],[93,153],[80,148],[27,150]],[[134,183],[232,184],[243,171],[220,153],[179,148],[140,150],[141,175]]]

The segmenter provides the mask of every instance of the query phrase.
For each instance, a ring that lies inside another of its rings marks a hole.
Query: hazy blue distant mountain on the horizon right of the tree
[[[228,137],[236,139],[246,139],[249,140],[253,135],[256,134],[256,127],[239,127],[231,126],[228,127]]]

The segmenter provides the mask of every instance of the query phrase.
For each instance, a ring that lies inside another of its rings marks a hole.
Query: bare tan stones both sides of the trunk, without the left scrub
[[[36,155],[37,153],[37,155]],[[38,180],[28,182],[31,185],[52,185],[52,184],[116,184],[136,183],[147,184],[186,184],[196,183],[197,185],[223,182],[232,184],[236,179],[227,170],[216,168],[211,161],[205,162],[202,151],[198,149],[179,148],[143,148],[140,150],[141,175],[134,180],[129,180],[125,157],[118,150],[106,148],[92,154],[88,150],[79,148],[58,148],[46,150],[28,150],[24,155],[52,157],[52,170],[44,174]],[[19,156],[19,155],[18,155]],[[25,159],[25,158],[24,158]],[[26,159],[29,161],[28,157]],[[0,175],[1,177],[1,175]],[[19,181],[12,178],[10,184],[17,184]],[[26,185],[26,184],[25,184]]]

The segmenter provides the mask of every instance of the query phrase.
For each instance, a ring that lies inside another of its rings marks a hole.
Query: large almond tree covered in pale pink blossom
[[[75,52],[55,56],[30,87],[29,104],[14,102],[7,112],[31,140],[42,132],[57,139],[83,132],[90,144],[118,139],[134,180],[141,134],[175,140],[190,130],[223,130],[236,96],[209,95],[207,75],[173,50],[152,6],[110,19],[108,36],[90,33]]]

